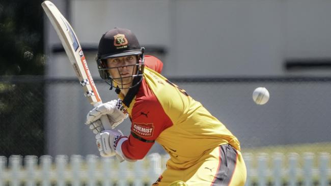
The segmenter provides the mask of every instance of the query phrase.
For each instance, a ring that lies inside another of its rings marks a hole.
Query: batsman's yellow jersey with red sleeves
[[[132,160],[142,159],[157,141],[170,154],[167,166],[184,169],[195,164],[211,148],[231,144],[240,150],[238,139],[192,99],[159,73],[162,62],[145,56],[144,79],[119,98],[127,107],[131,125],[122,152]]]

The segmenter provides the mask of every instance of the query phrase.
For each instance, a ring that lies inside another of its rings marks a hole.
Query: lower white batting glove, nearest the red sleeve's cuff
[[[102,133],[95,136],[98,150],[102,157],[115,156],[117,142],[120,138],[123,138],[123,133],[120,130],[114,131],[102,131]],[[124,137],[127,138],[127,137]]]

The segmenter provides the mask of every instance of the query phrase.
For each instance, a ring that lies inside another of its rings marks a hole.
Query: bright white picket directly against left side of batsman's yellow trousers
[[[148,185],[151,185],[161,174],[161,156],[158,153],[149,154],[147,157],[150,163],[150,169],[148,170],[150,176],[148,176]]]

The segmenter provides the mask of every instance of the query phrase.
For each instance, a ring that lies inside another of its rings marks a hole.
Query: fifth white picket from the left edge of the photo
[[[58,155],[55,158],[56,169],[57,169],[57,185],[65,186],[66,185],[66,165],[68,163],[68,157],[66,155]]]

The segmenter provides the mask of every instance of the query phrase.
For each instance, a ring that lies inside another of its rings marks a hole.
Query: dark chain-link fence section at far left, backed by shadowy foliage
[[[44,153],[44,84],[39,78],[1,78],[1,155]]]

